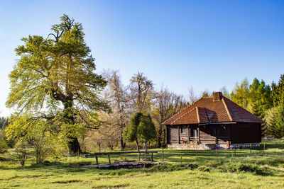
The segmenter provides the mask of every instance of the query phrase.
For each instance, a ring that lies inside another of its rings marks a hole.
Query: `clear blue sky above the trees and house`
[[[12,1],[0,0],[0,116],[9,93],[14,49],[28,35],[47,36],[63,13],[84,26],[97,71],[137,71],[187,96],[228,91],[254,77],[284,74],[284,1]]]

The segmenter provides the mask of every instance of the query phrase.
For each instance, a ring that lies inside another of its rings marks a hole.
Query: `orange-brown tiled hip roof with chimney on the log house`
[[[210,122],[259,122],[263,120],[236,103],[222,96],[201,98],[173,117],[165,120],[163,125],[202,124]]]

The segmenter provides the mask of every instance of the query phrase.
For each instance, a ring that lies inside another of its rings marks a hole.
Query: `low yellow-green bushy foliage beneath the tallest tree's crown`
[[[62,124],[60,116],[48,122],[42,118],[23,115],[11,117],[6,135],[8,139],[16,138],[19,142],[31,144],[38,164],[53,154],[65,154],[67,143],[78,128],[77,125]]]

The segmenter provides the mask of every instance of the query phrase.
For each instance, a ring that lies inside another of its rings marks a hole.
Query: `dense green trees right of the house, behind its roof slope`
[[[284,74],[271,85],[256,78],[249,84],[244,79],[234,87],[231,100],[265,121],[263,135],[284,136]]]

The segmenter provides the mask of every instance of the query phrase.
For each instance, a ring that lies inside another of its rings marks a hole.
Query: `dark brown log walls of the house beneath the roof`
[[[197,131],[195,137],[190,136],[190,130]],[[168,125],[168,144],[181,144],[182,140],[197,140],[200,144],[226,144],[227,141],[231,144],[261,142],[261,124],[238,122],[227,125]]]

